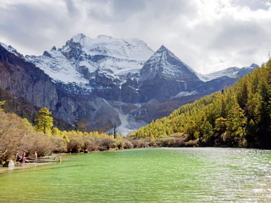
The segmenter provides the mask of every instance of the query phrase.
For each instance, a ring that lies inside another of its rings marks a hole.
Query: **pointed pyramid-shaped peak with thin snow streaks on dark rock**
[[[139,93],[145,102],[169,100],[180,92],[193,92],[203,83],[192,69],[162,45],[144,63],[139,78]]]

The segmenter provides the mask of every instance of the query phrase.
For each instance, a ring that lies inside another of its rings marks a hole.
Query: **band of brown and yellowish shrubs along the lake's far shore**
[[[136,139],[116,136],[116,139],[105,133],[60,131],[53,128],[50,133],[37,131],[26,118],[0,111],[0,161],[15,160],[15,153],[26,151],[27,157],[36,151],[38,157],[52,152],[85,152],[120,150],[142,147],[180,147],[196,146],[197,141],[189,140],[186,134],[174,134],[157,139]]]

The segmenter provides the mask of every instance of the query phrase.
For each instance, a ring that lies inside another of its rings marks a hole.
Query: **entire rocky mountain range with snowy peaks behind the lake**
[[[141,40],[78,34],[38,57],[0,43],[0,93],[33,112],[47,107],[60,129],[110,132],[116,124],[128,134],[255,67],[201,75],[163,45],[154,53]]]

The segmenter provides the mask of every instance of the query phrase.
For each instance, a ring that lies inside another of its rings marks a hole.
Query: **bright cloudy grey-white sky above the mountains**
[[[77,33],[164,44],[195,71],[260,65],[271,50],[271,0],[0,0],[0,42],[42,55]]]

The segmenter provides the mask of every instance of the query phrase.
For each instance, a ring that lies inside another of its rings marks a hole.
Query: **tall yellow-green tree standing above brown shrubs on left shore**
[[[52,112],[50,112],[46,107],[39,110],[38,115],[35,118],[35,122],[37,125],[35,129],[37,131],[42,131],[44,133],[51,133],[51,128],[53,127],[53,117],[49,116]]]

